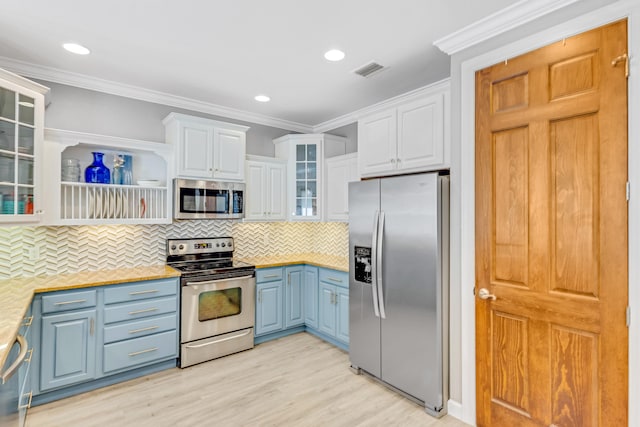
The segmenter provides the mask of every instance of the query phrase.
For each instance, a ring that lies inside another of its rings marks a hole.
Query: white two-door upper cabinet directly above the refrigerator
[[[358,121],[362,177],[449,167],[449,89],[363,117]]]

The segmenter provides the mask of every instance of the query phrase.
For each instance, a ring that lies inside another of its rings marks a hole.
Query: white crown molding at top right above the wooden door
[[[433,44],[444,53],[453,55],[577,1],[520,0],[486,18],[434,41]]]

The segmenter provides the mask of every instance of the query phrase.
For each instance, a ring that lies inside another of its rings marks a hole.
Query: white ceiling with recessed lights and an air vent
[[[447,77],[433,41],[513,2],[0,0],[0,66],[10,58],[315,126]],[[91,55],[66,52],[69,41]],[[326,61],[331,48],[346,58]],[[352,73],[371,60],[389,68]]]

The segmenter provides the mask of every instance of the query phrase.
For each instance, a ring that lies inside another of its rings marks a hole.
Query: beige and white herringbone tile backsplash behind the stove
[[[167,238],[233,236],[237,257],[317,252],[347,256],[345,223],[178,221],[169,225],[0,227],[0,279],[165,262]],[[38,256],[32,261],[29,252]]]

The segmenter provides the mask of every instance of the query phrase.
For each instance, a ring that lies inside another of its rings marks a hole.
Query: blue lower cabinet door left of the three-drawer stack
[[[42,317],[40,390],[93,379],[96,310]]]

